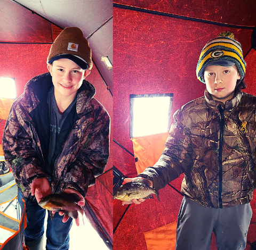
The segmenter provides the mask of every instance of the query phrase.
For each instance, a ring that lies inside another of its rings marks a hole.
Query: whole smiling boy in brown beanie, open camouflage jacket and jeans
[[[4,156],[26,199],[26,245],[41,250],[46,210],[38,205],[52,193],[75,193],[85,205],[109,156],[109,115],[93,98],[85,78],[92,68],[91,48],[78,28],[66,28],[47,57],[48,73],[34,77],[15,100],[3,134]],[[72,219],[49,214],[46,249],[68,249]],[[63,223],[65,222],[65,223]],[[76,219],[79,226],[79,218]]]

